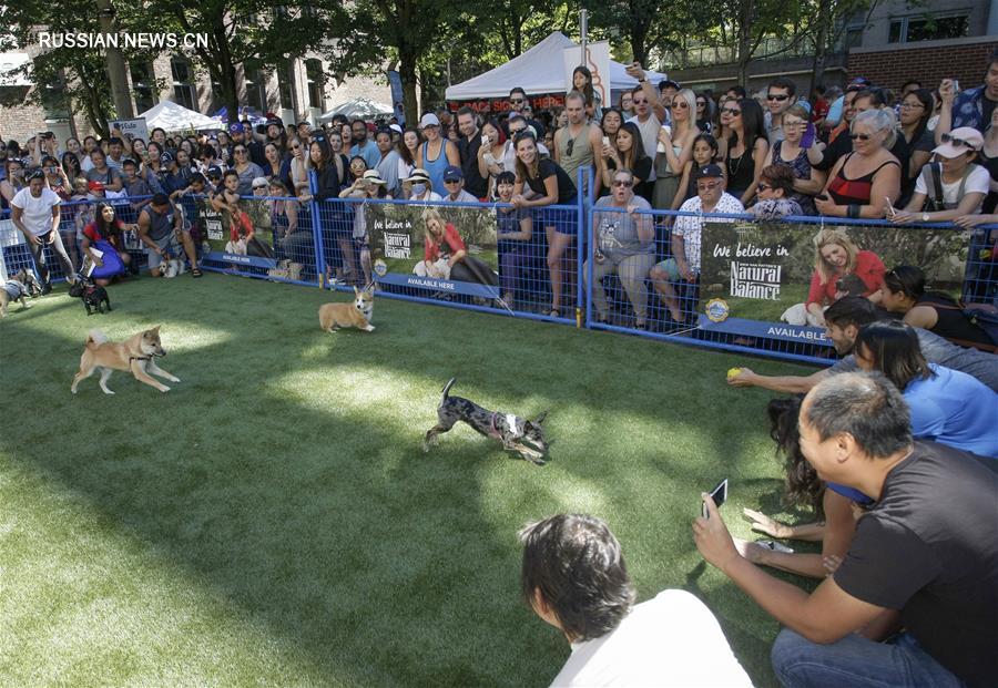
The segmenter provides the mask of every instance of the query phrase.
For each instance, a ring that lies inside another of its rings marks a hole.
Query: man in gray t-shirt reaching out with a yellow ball
[[[829,315],[831,314],[831,315]],[[844,358],[832,368],[819,370],[811,376],[761,376],[747,368],[729,378],[733,387],[762,387],[774,392],[806,393],[812,387],[829,374],[852,372],[857,369],[853,356],[853,347],[859,328],[868,322],[879,320],[882,314],[876,306],[862,296],[847,296],[838,299],[825,311],[828,338],[835,350]],[[977,349],[966,349],[948,342],[928,330],[915,328],[921,353],[929,363],[951,368],[974,376],[992,390],[998,391],[998,356]]]

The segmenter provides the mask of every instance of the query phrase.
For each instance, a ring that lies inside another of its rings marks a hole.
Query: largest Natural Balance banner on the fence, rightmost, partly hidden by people
[[[705,223],[700,327],[826,343],[821,314],[843,296],[869,296],[898,265],[960,295],[972,230]],[[808,306],[809,304],[809,306]]]

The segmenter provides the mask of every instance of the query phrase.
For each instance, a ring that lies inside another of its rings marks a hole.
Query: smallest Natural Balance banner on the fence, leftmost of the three
[[[271,207],[266,201],[242,198],[235,216],[227,209],[215,209],[205,197],[194,199],[194,208],[192,228],[211,247],[206,260],[225,263],[228,267],[269,269],[277,265]]]

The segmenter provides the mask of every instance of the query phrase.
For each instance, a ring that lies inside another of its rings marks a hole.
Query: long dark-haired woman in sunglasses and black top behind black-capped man
[[[751,97],[729,101],[724,110],[731,129],[724,160],[727,193],[747,206],[755,196],[758,177],[768,162],[770,140],[766,137],[763,110]]]

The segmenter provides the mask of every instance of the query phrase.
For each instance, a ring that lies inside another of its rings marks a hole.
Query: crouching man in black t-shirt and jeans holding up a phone
[[[705,493],[710,518],[693,524],[704,559],[785,626],[771,654],[780,682],[992,686],[998,674],[994,461],[914,441],[900,391],[877,372],[819,382],[804,398],[798,427],[801,451],[818,478],[874,502],[839,566],[813,593],[742,557]],[[860,635],[873,635],[873,628],[888,641]]]

